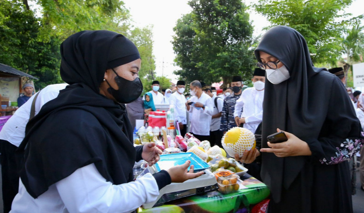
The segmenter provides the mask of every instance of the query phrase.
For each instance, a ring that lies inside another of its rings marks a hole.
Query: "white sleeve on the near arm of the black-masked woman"
[[[72,213],[127,213],[154,201],[158,185],[151,174],[135,182],[106,182],[94,164],[77,169],[55,183],[67,210]]]

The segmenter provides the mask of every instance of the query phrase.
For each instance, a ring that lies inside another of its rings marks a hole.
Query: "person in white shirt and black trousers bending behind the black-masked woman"
[[[65,89],[67,84],[53,84],[38,91],[35,100],[35,115],[40,108],[50,100],[56,98],[60,90]],[[15,150],[24,139],[25,127],[29,121],[31,106],[36,94],[17,109],[15,114],[5,123],[0,132],[1,146],[1,174],[2,174],[2,199],[4,212],[8,213],[14,197],[18,193],[19,175],[17,174],[17,162],[15,161]]]

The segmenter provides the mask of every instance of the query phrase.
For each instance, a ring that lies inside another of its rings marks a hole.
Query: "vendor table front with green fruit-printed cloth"
[[[151,209],[139,208],[139,213],[249,213],[251,208],[269,196],[267,186],[246,174],[242,178],[247,189],[232,194],[218,191],[181,198]]]

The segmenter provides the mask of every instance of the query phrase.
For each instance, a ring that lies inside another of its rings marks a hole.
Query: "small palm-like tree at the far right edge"
[[[345,35],[341,37],[341,52],[346,56],[346,60],[343,59],[341,62],[344,64],[345,77],[348,83],[348,71],[351,65],[363,60],[361,57],[364,55],[364,26],[353,25],[351,28],[345,29],[344,33]]]

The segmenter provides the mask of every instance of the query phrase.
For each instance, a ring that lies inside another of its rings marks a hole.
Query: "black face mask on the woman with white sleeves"
[[[122,104],[129,104],[138,99],[143,91],[143,84],[140,81],[140,78],[137,77],[135,80],[130,81],[117,75],[114,69],[112,70],[116,74],[115,82],[119,89],[115,90],[112,88],[107,80],[106,83],[110,86],[107,91],[115,98],[115,100]]]

